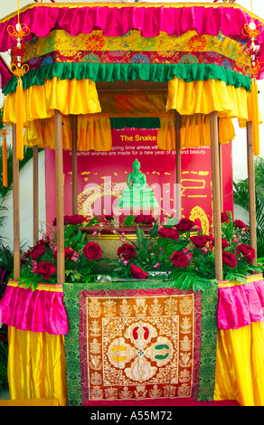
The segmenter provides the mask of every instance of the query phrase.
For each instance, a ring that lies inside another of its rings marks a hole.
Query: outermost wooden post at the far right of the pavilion
[[[257,221],[256,221],[256,194],[255,194],[255,168],[253,153],[252,122],[247,123],[247,156],[249,177],[249,206],[250,206],[250,246],[256,252],[256,259],[252,265],[257,266]]]

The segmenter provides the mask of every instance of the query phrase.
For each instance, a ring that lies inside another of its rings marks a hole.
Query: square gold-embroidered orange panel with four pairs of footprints
[[[193,295],[87,298],[89,397],[190,397]]]

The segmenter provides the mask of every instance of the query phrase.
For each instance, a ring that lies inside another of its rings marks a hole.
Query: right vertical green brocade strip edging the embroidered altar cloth
[[[217,349],[218,282],[202,293],[202,341],[197,401],[212,401]]]

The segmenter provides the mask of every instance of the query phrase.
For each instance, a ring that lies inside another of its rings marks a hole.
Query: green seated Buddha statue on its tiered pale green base
[[[140,211],[140,213],[150,213],[154,209],[159,209],[159,204],[150,187],[146,187],[146,175],[140,171],[140,162],[135,159],[133,163],[133,173],[127,175],[127,186],[124,189],[117,207],[125,210]]]

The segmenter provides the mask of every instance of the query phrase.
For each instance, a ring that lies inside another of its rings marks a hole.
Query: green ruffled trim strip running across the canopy
[[[208,63],[52,63],[27,72],[23,80],[24,89],[36,85],[42,86],[46,79],[58,77],[61,80],[91,79],[94,81],[146,81],[166,82],[174,75],[186,82],[197,80],[222,80],[235,88],[250,90],[250,77],[235,71]],[[5,96],[16,89],[17,79],[13,77],[3,89]]]

